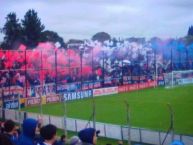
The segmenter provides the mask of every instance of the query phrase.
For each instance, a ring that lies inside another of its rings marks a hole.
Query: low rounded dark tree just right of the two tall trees
[[[46,30],[44,32],[41,33],[41,38],[40,41],[46,42],[46,41],[50,41],[50,42],[59,42],[61,47],[65,48],[66,44],[64,43],[64,40],[62,37],[60,37],[56,32],[54,31],[49,31]]]

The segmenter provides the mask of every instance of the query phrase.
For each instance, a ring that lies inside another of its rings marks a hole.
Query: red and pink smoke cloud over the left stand
[[[93,54],[98,53],[99,48],[94,48]],[[58,72],[57,75],[64,76],[69,75],[73,69],[78,69],[79,73],[76,75],[80,75],[81,57],[79,50],[58,49],[51,42],[39,43],[33,50],[27,50],[27,47],[21,44],[18,50],[0,51],[0,59],[4,61],[4,69],[22,69],[25,71],[26,68],[30,76],[38,75],[40,81],[43,81],[46,75],[55,77],[56,71]],[[91,60],[82,57],[82,62],[82,75],[91,74],[92,66],[88,63]]]

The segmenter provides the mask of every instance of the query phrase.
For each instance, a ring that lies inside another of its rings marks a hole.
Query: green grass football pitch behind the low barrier
[[[173,89],[152,88],[96,98],[96,120],[113,124],[126,123],[127,100],[131,111],[132,126],[166,131],[170,119],[167,103],[173,107],[176,133],[193,135],[193,86]],[[62,103],[43,105],[43,113],[63,115]],[[25,108],[25,111],[38,112],[38,107]],[[67,115],[88,120],[92,114],[92,99],[67,103]]]

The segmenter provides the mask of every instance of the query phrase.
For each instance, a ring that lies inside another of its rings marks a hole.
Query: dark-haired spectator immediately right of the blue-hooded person
[[[40,135],[44,139],[44,142],[39,143],[39,145],[53,145],[56,142],[56,126],[48,124],[41,128]]]

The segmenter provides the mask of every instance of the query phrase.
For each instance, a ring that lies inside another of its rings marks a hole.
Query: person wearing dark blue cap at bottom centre
[[[94,128],[86,128],[78,132],[78,137],[82,141],[81,145],[96,145],[98,133]]]

